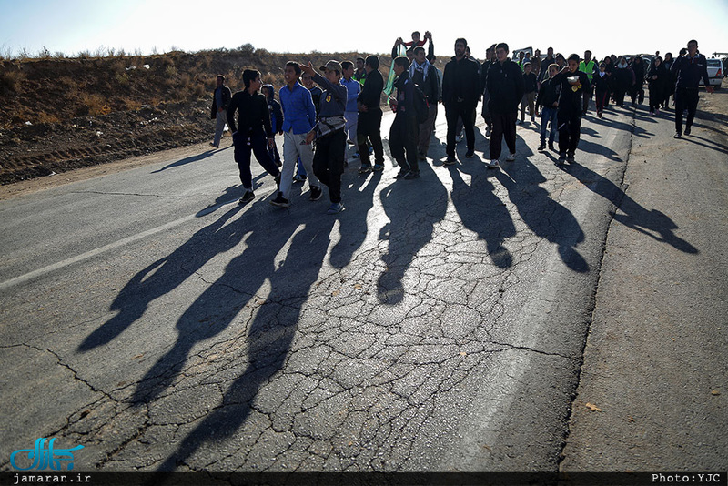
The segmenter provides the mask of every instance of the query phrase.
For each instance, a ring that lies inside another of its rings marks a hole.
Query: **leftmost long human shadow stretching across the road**
[[[239,210],[239,207],[231,208],[167,257],[158,259],[132,277],[111,303],[110,310],[117,311],[116,316],[89,334],[78,350],[95,349],[116,339],[144,315],[153,300],[177,289],[218,253],[235,247],[245,232],[237,224],[226,223]]]

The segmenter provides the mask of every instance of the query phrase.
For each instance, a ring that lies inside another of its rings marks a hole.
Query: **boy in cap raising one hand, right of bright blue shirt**
[[[301,70],[310,75],[314,83],[324,89],[319,102],[319,122],[306,137],[306,142],[316,139],[316,153],[313,157],[313,171],[319,181],[329,187],[331,206],[328,214],[337,214],[344,209],[341,204],[341,175],[346,161],[347,134],[344,131],[347,107],[347,88],[341,85],[341,63],[331,60],[320,70],[319,75],[313,66],[301,65]]]

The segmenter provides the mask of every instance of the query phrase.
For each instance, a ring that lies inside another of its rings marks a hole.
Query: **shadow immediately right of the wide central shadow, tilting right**
[[[494,175],[482,164],[466,163],[448,167],[452,177],[450,198],[465,228],[484,239],[490,260],[499,268],[511,268],[513,256],[503,246],[505,238],[515,236],[516,227],[511,214],[501,199],[493,193],[495,188],[487,176]],[[462,178],[470,176],[470,186]]]

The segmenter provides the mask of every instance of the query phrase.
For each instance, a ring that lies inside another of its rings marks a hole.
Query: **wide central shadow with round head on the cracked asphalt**
[[[432,239],[435,224],[445,218],[448,193],[430,164],[420,163],[420,178],[395,180],[379,193],[389,223],[379,239],[389,242],[381,255],[387,268],[379,275],[377,295],[384,304],[404,299],[402,278],[420,249]]]

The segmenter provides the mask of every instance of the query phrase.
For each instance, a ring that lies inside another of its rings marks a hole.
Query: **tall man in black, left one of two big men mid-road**
[[[465,52],[468,41],[455,41],[455,56],[445,65],[442,76],[442,103],[445,105],[445,117],[448,121],[446,166],[455,163],[455,135],[458,118],[465,127],[465,138],[468,141],[468,152],[465,157],[475,154],[475,130],[473,128],[475,108],[480,99],[480,75],[477,61],[470,59]]]

